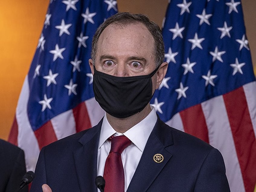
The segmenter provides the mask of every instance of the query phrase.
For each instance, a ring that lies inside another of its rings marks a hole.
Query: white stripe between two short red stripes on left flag
[[[76,133],[72,109],[53,117],[51,123],[58,140]]]

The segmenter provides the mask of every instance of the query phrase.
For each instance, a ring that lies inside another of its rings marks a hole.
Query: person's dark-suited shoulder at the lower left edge
[[[25,173],[23,150],[0,139],[0,192],[16,191]],[[20,191],[28,191],[27,186]]]

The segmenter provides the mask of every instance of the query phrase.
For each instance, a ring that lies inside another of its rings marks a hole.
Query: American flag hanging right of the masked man
[[[256,83],[241,2],[171,0],[162,33],[169,66],[151,101],[160,118],[219,149],[231,191],[253,191]]]

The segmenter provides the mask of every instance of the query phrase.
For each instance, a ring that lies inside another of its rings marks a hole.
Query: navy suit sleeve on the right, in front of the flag
[[[206,156],[200,168],[194,191],[230,191],[225,164],[217,149],[213,148]]]

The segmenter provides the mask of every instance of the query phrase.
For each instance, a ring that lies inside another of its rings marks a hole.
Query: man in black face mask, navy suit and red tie
[[[32,192],[42,185],[45,192],[96,192],[97,175],[107,178],[105,192],[229,191],[220,152],[169,127],[150,106],[167,71],[163,59],[161,30],[145,15],[117,13],[98,28],[89,64],[95,99],[106,115],[41,150]],[[107,165],[118,136],[130,141],[118,152],[122,176],[111,172],[118,165]]]

